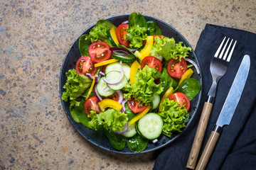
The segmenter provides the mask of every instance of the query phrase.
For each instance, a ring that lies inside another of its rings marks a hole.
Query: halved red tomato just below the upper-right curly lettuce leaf
[[[186,61],[182,58],[181,62],[179,61],[179,58],[171,59],[169,61],[169,64],[167,66],[167,71],[171,77],[175,78],[181,78],[184,72],[186,72],[187,64]]]

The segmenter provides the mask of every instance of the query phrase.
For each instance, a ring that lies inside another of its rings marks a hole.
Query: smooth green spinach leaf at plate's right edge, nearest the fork
[[[175,91],[186,94],[186,96],[188,96],[188,99],[191,101],[192,98],[194,98],[200,90],[201,85],[199,81],[189,78],[184,79]]]

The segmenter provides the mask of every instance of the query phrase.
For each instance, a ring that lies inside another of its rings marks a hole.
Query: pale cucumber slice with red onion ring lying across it
[[[106,79],[108,81],[115,81],[115,80],[120,79],[120,77],[121,77],[121,72],[117,72],[117,71],[109,72],[106,75]],[[117,91],[117,90],[122,89],[125,86],[125,84],[127,84],[127,83],[128,83],[128,80],[124,76],[124,78],[118,84],[107,84],[107,86],[109,86],[110,89]]]

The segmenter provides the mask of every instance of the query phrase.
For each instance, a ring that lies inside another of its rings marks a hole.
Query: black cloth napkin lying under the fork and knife
[[[224,126],[220,133],[219,140],[215,145],[206,169],[256,169],[256,34],[245,30],[206,24],[195,50],[203,76],[203,94],[200,108],[190,127],[183,135],[170,145],[159,150],[154,170],[186,169],[203,103],[206,101],[208,90],[212,84],[209,69],[210,61],[225,36],[238,40],[238,42],[230,60],[228,72],[218,83],[215,102],[213,103],[212,113],[198,159],[203,152],[210,132],[215,126],[242,58],[244,55],[250,55],[250,72],[245,89],[242,92],[230,125]]]

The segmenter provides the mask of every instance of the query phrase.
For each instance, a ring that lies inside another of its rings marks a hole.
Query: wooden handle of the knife
[[[203,170],[206,169],[208,161],[210,159],[210,155],[213,153],[213,149],[218,141],[220,136],[220,129],[221,127],[216,125],[215,129],[210,133],[210,137],[206,143],[206,147],[203,149],[203,154],[201,155],[199,162],[196,166],[196,170]]]

